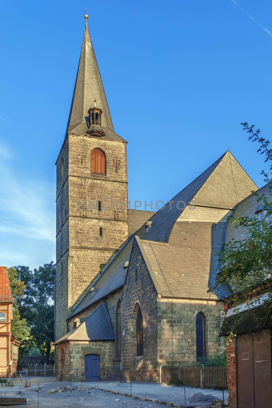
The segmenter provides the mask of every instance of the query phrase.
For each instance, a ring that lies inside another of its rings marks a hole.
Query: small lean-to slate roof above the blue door
[[[111,319],[108,314],[106,302],[95,308],[78,326],[65,336],[61,337],[54,344],[63,341],[95,341],[95,340],[115,340]]]

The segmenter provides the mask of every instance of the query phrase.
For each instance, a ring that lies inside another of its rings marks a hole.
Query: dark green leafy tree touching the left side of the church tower
[[[15,267],[26,288],[19,299],[20,313],[31,328],[31,337],[44,359],[49,363],[54,341],[54,280],[55,264],[44,264],[33,272],[28,266]]]

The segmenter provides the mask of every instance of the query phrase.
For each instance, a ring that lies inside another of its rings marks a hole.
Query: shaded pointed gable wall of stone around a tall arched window
[[[137,275],[136,275],[137,270]],[[144,356],[137,359],[135,310],[143,315]],[[157,381],[157,292],[135,241],[121,300],[121,358],[126,379]]]

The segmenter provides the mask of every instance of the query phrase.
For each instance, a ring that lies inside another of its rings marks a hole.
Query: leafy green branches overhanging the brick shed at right
[[[241,123],[243,130],[249,133],[248,140],[259,142],[260,147],[257,152],[264,154],[265,162],[272,162],[272,149],[269,149],[269,140],[260,136],[260,130],[254,131],[254,125],[248,126],[247,122]],[[270,164],[269,173],[261,171],[264,181],[272,181],[272,164]],[[228,222],[234,223],[234,227],[244,228],[244,239],[232,239],[223,244],[219,254],[221,270],[216,276],[215,286],[210,291],[215,291],[221,285],[228,285],[232,291],[233,305],[243,302],[252,292],[252,286],[262,283],[272,277],[272,184],[268,188],[268,195],[252,191],[252,195],[258,197],[257,201],[263,203],[267,208],[267,213],[261,220],[256,217],[241,217],[234,219],[230,216]],[[272,302],[272,288],[268,287],[268,298],[265,302]],[[249,303],[251,301],[248,301]]]

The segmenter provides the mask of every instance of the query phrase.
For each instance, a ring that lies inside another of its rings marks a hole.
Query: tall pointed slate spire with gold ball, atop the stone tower
[[[88,111],[93,106],[93,101],[96,100],[97,108],[103,112],[101,127],[104,133],[107,134],[109,130],[112,135],[113,123],[88,30],[87,10],[84,18],[85,31],[66,134],[72,132],[85,135],[89,126]]]

